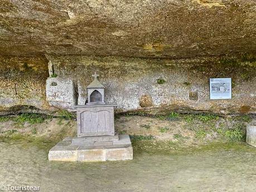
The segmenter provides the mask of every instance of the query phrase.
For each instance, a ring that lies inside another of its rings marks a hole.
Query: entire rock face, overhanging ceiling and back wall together
[[[253,114],[255,29],[255,0],[2,0],[0,114],[84,104],[94,71],[117,111]]]

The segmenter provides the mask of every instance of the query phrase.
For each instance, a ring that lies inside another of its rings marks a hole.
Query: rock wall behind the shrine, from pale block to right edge
[[[78,104],[84,104],[86,86],[96,71],[106,86],[105,101],[117,104],[118,111],[256,112],[256,67],[252,57],[194,60],[85,56],[48,58],[58,77],[76,82]],[[213,77],[232,78],[231,100],[209,99],[209,78]]]

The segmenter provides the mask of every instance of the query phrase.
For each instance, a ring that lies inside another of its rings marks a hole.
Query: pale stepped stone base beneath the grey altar
[[[105,141],[109,142],[109,141]],[[65,138],[49,151],[50,161],[117,161],[132,160],[133,149],[129,135],[119,135],[111,145],[76,145]],[[104,144],[104,141],[102,142]]]

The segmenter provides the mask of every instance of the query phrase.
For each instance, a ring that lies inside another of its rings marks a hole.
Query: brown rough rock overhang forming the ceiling
[[[0,54],[255,53],[255,6],[255,0],[2,0]]]

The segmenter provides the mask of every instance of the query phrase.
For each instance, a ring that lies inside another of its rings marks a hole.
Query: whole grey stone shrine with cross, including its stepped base
[[[94,73],[87,87],[88,101],[76,105],[78,137],[66,137],[49,151],[50,161],[132,160],[129,135],[114,131],[114,107],[105,104],[104,86]]]

